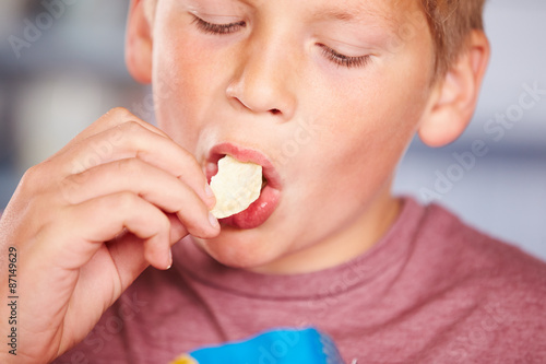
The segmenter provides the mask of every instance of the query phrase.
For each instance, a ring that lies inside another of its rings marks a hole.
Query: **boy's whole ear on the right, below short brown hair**
[[[465,51],[437,82],[419,124],[419,137],[429,146],[442,146],[462,134],[474,115],[490,47],[482,31],[473,31]]]

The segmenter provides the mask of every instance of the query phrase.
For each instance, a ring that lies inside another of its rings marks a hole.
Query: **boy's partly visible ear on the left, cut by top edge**
[[[152,19],[147,0],[131,0],[126,35],[126,63],[129,73],[141,83],[152,82]]]

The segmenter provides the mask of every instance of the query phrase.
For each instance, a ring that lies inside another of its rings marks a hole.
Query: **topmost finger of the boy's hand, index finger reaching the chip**
[[[138,157],[180,178],[207,207],[214,206],[214,195],[210,191],[206,177],[193,155],[173,140],[152,133],[138,122],[124,122],[115,129],[90,137],[59,155],[58,163],[64,165],[66,169],[61,173],[69,175],[131,157]]]

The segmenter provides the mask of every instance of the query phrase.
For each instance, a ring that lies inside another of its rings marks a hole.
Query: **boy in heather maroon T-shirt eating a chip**
[[[390,193],[415,132],[443,145],[471,119],[482,8],[133,0],[127,63],[161,130],[111,110],[24,176],[0,225],[21,318],[2,362],[165,363],[309,326],[347,362],[544,361],[545,265]],[[224,155],[264,187],[218,224]]]

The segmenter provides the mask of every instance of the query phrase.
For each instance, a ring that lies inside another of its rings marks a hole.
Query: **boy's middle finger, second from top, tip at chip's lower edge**
[[[102,164],[61,183],[62,193],[71,204],[99,196],[131,191],[167,213],[175,213],[194,236],[217,234],[217,224],[201,198],[180,179],[139,158]],[[211,220],[214,224],[211,223]]]

